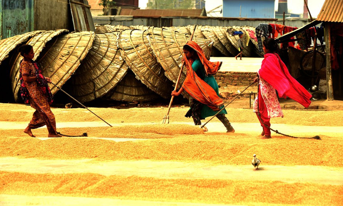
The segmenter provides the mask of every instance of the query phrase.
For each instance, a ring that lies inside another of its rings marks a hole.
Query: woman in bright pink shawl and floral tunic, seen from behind
[[[258,78],[254,79],[255,82],[259,80],[259,90],[253,111],[256,112],[263,127],[262,139],[271,138],[270,118],[283,117],[275,90],[280,98],[288,96],[306,108],[311,104],[312,95],[289,74],[286,65],[275,53],[278,49],[279,46],[274,39],[267,38],[263,41],[265,55],[261,69],[257,72]]]

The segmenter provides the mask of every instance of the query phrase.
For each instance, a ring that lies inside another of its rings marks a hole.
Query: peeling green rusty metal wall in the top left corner
[[[34,0],[0,0],[1,39],[33,31]]]

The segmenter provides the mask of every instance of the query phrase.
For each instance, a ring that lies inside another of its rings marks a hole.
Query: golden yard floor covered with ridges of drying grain
[[[262,128],[251,109],[228,108],[236,133],[208,132],[188,107],[52,108],[58,131],[23,133],[34,110],[0,104],[0,205],[342,205],[343,111],[286,110]],[[208,119],[206,119],[208,120]],[[204,123],[204,121],[203,121]],[[251,165],[253,154],[260,170]]]

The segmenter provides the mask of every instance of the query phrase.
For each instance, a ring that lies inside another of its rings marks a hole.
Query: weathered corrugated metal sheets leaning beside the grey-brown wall
[[[95,27],[93,23],[90,5],[87,0],[69,0],[71,15],[73,17],[75,32],[93,31]]]

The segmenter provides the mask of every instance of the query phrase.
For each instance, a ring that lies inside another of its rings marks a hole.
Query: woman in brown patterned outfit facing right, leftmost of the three
[[[44,125],[48,128],[48,137],[61,137],[56,133],[55,116],[50,110],[52,94],[48,87],[50,78],[44,77],[37,63],[33,61],[34,52],[31,45],[24,44],[20,48],[20,54],[24,58],[20,62],[20,92],[26,104],[30,103],[36,111],[33,113],[31,122],[24,129],[24,133],[31,137],[31,129]]]

